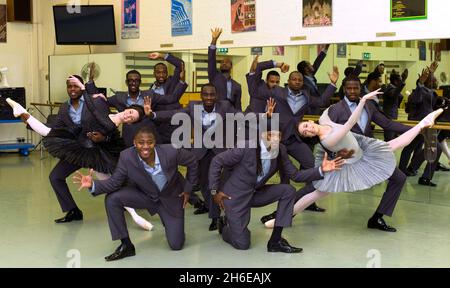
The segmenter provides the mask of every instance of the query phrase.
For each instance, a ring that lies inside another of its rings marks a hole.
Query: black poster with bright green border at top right
[[[391,21],[427,19],[428,0],[391,0]]]

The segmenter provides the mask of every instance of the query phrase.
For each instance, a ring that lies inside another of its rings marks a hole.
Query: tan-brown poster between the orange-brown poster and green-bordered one
[[[333,0],[303,0],[303,27],[333,25]]]

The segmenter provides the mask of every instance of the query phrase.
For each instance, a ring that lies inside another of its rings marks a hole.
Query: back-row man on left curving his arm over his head
[[[169,53],[150,53],[148,57],[152,60],[165,60],[175,67],[175,71],[172,76],[169,76],[167,65],[164,63],[158,63],[153,69],[153,75],[156,79],[150,90],[160,95],[171,94],[174,92],[177,83],[180,81],[180,74],[184,70],[184,62]],[[184,81],[184,80],[183,80]],[[181,109],[179,101],[172,104],[158,104],[155,106],[155,111],[168,111]],[[170,143],[172,132],[177,128],[175,125],[170,125],[168,122],[157,122],[158,134],[160,136],[160,142],[164,144]]]

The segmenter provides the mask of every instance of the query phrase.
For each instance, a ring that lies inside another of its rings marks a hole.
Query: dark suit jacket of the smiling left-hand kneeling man
[[[193,185],[197,184],[198,161],[195,156],[184,149],[175,149],[172,145],[157,145],[155,147],[167,184],[159,191],[152,177],[147,173],[139,155],[134,147],[120,153],[119,163],[111,178],[95,181],[94,196],[109,194],[118,191],[125,183],[135,186],[145,193],[149,200],[161,204],[174,216],[182,217],[183,199],[179,197],[182,192],[192,192]],[[178,171],[178,165],[186,166],[186,179]],[[152,215],[155,209],[150,209]]]

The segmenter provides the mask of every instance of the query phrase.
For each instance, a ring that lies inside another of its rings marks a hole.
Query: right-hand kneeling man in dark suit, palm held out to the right
[[[212,160],[209,170],[211,194],[226,214],[219,221],[219,233],[234,248],[249,249],[250,231],[247,226],[251,208],[278,202],[275,227],[267,243],[267,251],[299,253],[301,248],[292,247],[281,237],[283,228],[292,223],[295,189],[289,184],[269,185],[267,181],[279,170],[296,182],[320,180],[323,173],[339,169],[343,162],[339,158],[332,161],[325,158],[321,167],[299,171],[289,160],[286,148],[279,144],[279,131],[263,132],[256,142],[253,145],[256,149],[247,142],[246,148],[230,149]],[[220,188],[222,169],[231,171]]]

